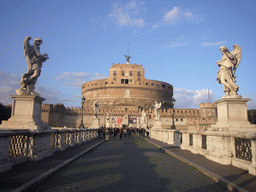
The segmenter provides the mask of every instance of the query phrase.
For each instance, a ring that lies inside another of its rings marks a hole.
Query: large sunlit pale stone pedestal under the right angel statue
[[[248,121],[247,101],[244,98],[222,98],[217,104],[218,121],[209,131],[256,131],[256,126]]]

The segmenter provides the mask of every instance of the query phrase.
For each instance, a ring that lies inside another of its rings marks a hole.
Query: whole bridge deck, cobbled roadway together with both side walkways
[[[201,171],[209,176],[215,174],[213,177],[217,175],[248,191],[256,189],[256,177],[247,171],[219,165],[200,155],[146,139],[149,142],[135,135],[127,139],[111,138],[48,176],[33,191],[228,191]],[[0,191],[11,191],[98,142],[94,140],[38,162],[17,165],[0,174]]]

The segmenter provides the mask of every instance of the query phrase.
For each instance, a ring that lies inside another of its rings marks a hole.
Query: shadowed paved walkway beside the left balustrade
[[[65,164],[68,164],[69,161],[75,159],[79,154],[91,151],[91,149],[102,142],[102,140],[95,139],[72,148],[67,148],[65,151],[55,152],[54,155],[40,161],[27,161],[15,165],[12,170],[0,173],[0,191],[12,191],[24,184],[21,187],[21,191],[24,189],[26,191],[55,171],[58,171],[61,166],[65,166]],[[35,180],[35,178],[37,179]],[[20,191],[20,189],[16,191]]]

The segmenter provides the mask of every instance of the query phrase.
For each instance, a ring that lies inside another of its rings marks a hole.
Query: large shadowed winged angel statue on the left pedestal
[[[46,53],[44,55],[40,54],[40,45],[43,43],[42,39],[36,38],[33,45],[29,44],[30,39],[31,37],[28,36],[23,41],[28,70],[21,78],[21,87],[16,90],[17,95],[39,95],[34,91],[35,84],[40,76],[42,63],[49,59]]]

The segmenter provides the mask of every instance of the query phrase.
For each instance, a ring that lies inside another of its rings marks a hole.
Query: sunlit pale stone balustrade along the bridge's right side
[[[256,175],[255,132],[220,132],[153,129],[151,138],[189,150],[223,165],[233,165]]]

